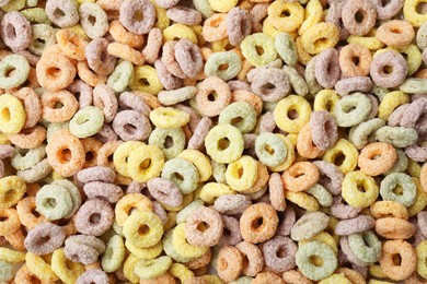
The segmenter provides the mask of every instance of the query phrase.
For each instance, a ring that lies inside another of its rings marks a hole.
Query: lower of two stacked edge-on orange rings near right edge
[[[389,239],[407,239],[416,230],[412,223],[396,217],[378,218],[374,228],[378,235]]]

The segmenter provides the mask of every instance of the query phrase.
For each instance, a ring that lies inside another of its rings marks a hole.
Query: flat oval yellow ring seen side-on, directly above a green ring
[[[150,120],[159,128],[180,128],[188,123],[189,115],[173,107],[158,107],[151,110]]]

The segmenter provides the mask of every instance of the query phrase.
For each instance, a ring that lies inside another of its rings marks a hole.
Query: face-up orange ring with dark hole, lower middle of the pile
[[[270,204],[253,204],[240,217],[240,233],[249,242],[263,242],[275,235],[278,223],[277,212]]]

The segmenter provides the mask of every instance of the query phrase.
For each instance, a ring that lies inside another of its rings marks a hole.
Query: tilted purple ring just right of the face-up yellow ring
[[[322,151],[335,145],[338,140],[338,126],[326,110],[313,111],[310,117],[313,143]]]

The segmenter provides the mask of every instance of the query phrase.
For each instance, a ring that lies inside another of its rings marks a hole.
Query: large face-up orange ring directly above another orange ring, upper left
[[[36,75],[41,86],[57,92],[71,85],[76,76],[76,67],[71,60],[60,52],[55,55],[45,52],[36,64]]]

